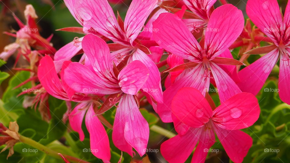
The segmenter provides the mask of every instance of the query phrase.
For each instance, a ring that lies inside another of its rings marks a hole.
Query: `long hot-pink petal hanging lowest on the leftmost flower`
[[[97,158],[110,160],[110,144],[106,130],[97,116],[92,105],[85,115],[85,126],[90,133],[90,149]]]

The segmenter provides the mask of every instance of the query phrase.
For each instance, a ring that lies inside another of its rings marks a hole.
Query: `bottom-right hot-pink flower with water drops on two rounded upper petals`
[[[250,93],[236,94],[212,111],[197,89],[182,88],[172,100],[172,115],[190,128],[163,142],[161,154],[169,163],[183,163],[198,142],[192,163],[204,162],[216,133],[230,159],[242,162],[253,140],[239,129],[253,125],[259,113],[258,100]]]

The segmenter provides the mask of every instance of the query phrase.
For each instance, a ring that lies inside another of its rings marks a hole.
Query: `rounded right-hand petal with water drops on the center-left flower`
[[[147,81],[148,68],[140,61],[129,63],[118,75],[121,90],[126,94],[135,95]]]

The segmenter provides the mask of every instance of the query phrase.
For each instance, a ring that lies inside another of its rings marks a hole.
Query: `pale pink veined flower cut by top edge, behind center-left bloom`
[[[114,41],[112,46],[119,44],[118,49],[113,52],[114,55],[111,55],[116,65],[129,56],[129,62],[139,60],[147,66],[149,78],[142,89],[154,90],[147,93],[157,102],[162,102],[160,72],[152,59],[143,52],[148,49],[137,39],[149,14],[157,7],[157,0],[133,0],[124,22],[121,18],[117,21],[107,0],[67,0],[67,2],[69,2],[66,3],[69,10],[74,13],[74,17],[83,24],[84,28],[93,28],[99,34]]]

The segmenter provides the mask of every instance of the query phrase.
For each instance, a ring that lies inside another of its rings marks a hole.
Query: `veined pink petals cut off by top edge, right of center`
[[[207,20],[209,11],[217,0],[183,0],[185,5],[200,18]]]

